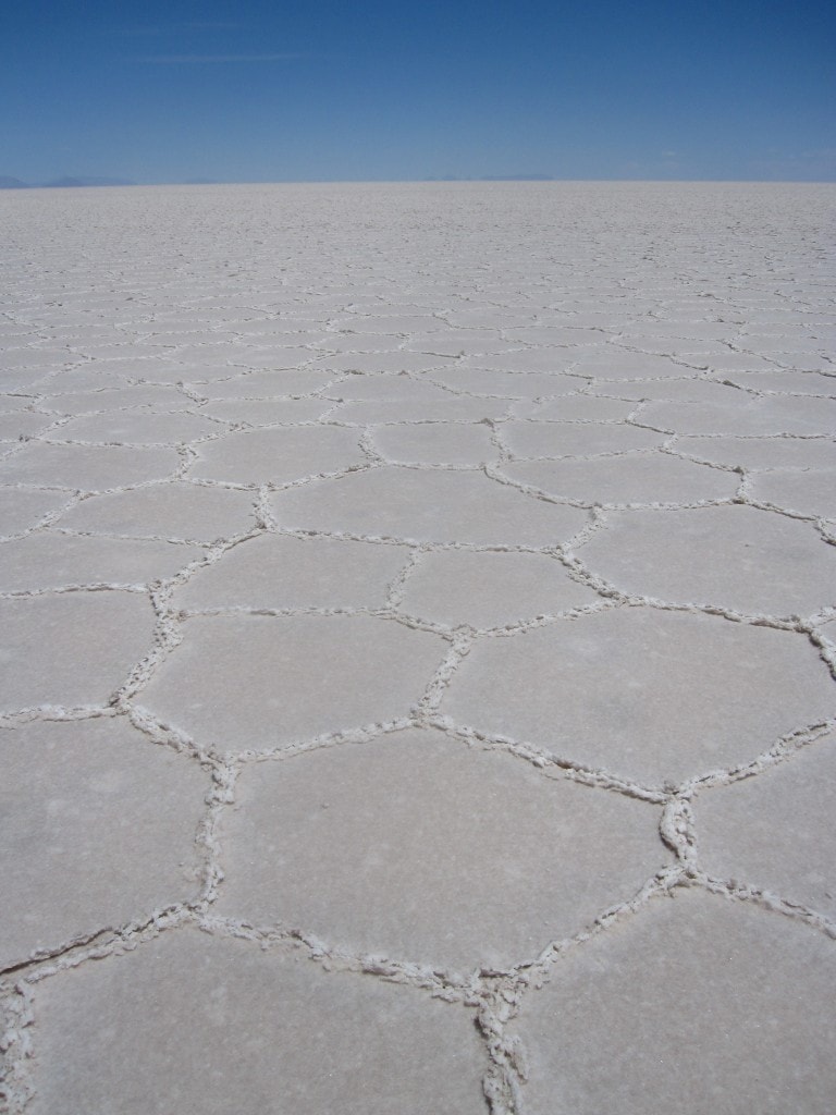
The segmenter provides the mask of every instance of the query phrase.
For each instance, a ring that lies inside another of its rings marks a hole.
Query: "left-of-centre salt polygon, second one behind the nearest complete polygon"
[[[2,550],[0,549],[0,553]],[[176,592],[179,608],[382,608],[402,546],[261,534],[227,550]]]

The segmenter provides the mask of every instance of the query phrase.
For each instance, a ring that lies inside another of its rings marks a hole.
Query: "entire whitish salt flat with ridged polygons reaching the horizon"
[[[0,195],[12,1115],[833,1115],[836,188]]]

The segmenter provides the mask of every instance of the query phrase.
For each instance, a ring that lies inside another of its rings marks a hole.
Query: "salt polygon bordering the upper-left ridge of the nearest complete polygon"
[[[438,636],[369,615],[196,617],[139,701],[218,752],[407,716]]]

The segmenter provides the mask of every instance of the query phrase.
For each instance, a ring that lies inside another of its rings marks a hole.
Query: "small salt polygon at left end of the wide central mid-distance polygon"
[[[97,534],[214,542],[250,531],[255,522],[251,493],[174,481],[85,500],[60,525]]]

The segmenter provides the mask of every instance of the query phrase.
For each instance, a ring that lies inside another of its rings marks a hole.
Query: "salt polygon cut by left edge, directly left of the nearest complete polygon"
[[[108,717],[0,729],[0,964],[196,893],[196,763]]]

